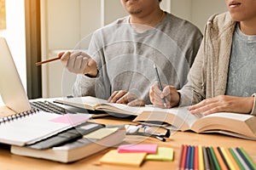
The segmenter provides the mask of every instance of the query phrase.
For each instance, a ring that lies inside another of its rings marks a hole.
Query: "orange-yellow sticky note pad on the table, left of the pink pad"
[[[140,167],[147,153],[119,153],[118,150],[109,150],[102,156],[100,162],[112,165]]]

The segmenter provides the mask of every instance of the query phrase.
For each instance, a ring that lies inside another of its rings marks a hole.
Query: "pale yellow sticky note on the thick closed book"
[[[86,134],[83,136],[83,138],[86,139],[102,139],[108,136],[111,133],[114,133],[117,131],[118,127],[112,127],[112,128],[100,128],[92,133]]]

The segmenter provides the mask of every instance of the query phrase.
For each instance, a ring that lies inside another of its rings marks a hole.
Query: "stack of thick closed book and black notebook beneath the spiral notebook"
[[[91,156],[121,143],[124,139],[123,126],[105,127],[97,123],[84,122],[34,144],[11,145],[11,153],[67,163]]]

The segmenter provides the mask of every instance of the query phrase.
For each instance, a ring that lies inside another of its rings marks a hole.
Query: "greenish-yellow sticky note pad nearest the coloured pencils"
[[[156,154],[148,154],[145,160],[155,161],[172,161],[173,160],[173,149],[167,147],[158,147]]]

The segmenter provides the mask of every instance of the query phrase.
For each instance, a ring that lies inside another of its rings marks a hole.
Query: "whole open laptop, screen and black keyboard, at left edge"
[[[10,53],[8,43],[4,37],[0,37],[0,95],[5,106],[0,106],[0,118],[15,113],[38,109],[40,111],[53,112],[57,114],[90,113],[92,117],[106,116],[107,113],[97,113],[81,108],[66,105],[53,104],[52,99],[29,100],[26,91],[20,80],[20,75],[16,69],[15,61]]]

